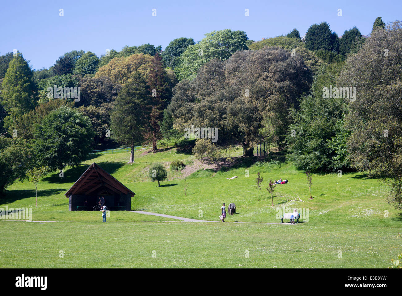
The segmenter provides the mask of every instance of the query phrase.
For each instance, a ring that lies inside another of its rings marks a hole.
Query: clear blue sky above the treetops
[[[249,17],[244,15],[246,8]],[[326,21],[338,35],[354,25],[368,35],[376,17],[388,23],[401,19],[401,13],[402,1],[396,0],[3,1],[0,54],[17,49],[33,68],[49,68],[71,50],[100,56],[125,45],[151,43],[165,48],[175,38],[192,37],[197,42],[205,33],[222,29],[243,30],[249,39],[260,40],[287,34],[293,27],[304,35],[310,25]]]

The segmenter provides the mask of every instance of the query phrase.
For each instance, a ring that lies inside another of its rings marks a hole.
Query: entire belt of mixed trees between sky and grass
[[[325,22],[303,38],[293,29],[261,41],[226,29],[197,43],[174,39],[164,51],[74,50],[41,70],[19,52],[0,56],[0,188],[29,168],[78,166],[111,143],[130,145],[131,163],[135,145],[155,150],[194,125],[219,131],[216,143],[197,140],[198,155],[238,143],[252,156],[262,137],[299,169],[391,180],[390,203],[401,208],[401,31],[380,17],[368,38],[356,27],[340,38]],[[79,87],[80,98],[49,96],[54,86]],[[355,88],[356,99],[325,98],[328,87]]]

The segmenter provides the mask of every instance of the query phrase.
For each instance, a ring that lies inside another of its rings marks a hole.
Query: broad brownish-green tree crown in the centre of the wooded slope
[[[282,128],[287,119],[276,118],[276,111],[297,105],[310,75],[300,57],[282,48],[239,51],[203,65],[193,81],[180,81],[169,110],[178,130],[216,127],[217,143],[236,139],[252,155],[263,118],[272,131]]]

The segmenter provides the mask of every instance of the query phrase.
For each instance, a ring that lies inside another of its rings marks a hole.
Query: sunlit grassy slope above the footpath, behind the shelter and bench
[[[276,209],[308,208],[310,225],[365,225],[402,226],[401,216],[388,205],[385,196],[387,184],[369,179],[363,173],[313,175],[313,200],[308,200],[308,185],[304,172],[286,163],[276,166],[249,166],[238,164],[226,172],[211,169],[199,170],[186,180],[181,172],[169,172],[169,181],[150,182],[148,169],[152,163],[162,162],[168,168],[170,161],[180,159],[187,167],[196,166],[193,155],[176,153],[169,149],[158,153],[137,155],[135,164],[126,164],[129,153],[94,155],[80,168],[65,170],[65,180],[60,181],[58,173],[47,176],[39,183],[39,207],[34,208],[35,220],[82,221],[97,216],[91,212],[68,212],[68,199],[64,193],[74,184],[84,170],[96,162],[113,174],[128,188],[135,192],[132,209],[146,210],[182,217],[217,220],[222,203],[235,203],[238,214],[229,216],[227,221],[278,222]],[[260,172],[264,181],[257,201],[255,178]],[[234,180],[228,180],[238,176]],[[274,194],[274,207],[266,187],[269,179],[288,179],[289,184],[277,185]],[[173,180],[172,180],[173,179]],[[187,196],[184,186],[187,183]],[[281,195],[297,195],[302,201],[287,201]],[[6,199],[0,203],[9,207],[34,207],[34,185],[25,181],[15,182],[9,188]],[[388,211],[388,217],[384,217]],[[133,213],[115,211],[118,219],[129,219]],[[149,218],[148,218],[149,219]],[[120,220],[121,221],[121,220]],[[125,221],[132,221],[131,219]]]

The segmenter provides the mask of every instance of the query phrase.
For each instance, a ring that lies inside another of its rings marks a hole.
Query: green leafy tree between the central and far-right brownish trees
[[[345,100],[323,98],[324,87],[336,87],[343,63],[322,66],[314,77],[312,93],[301,98],[299,110],[293,109],[287,140],[290,159],[302,170],[334,171],[349,167],[344,150],[348,134],[344,134]]]

